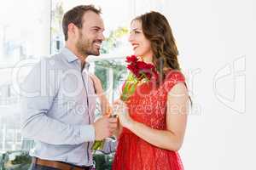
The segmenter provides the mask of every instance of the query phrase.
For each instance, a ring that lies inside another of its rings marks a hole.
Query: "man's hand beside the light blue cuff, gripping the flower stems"
[[[108,118],[103,116],[99,118],[93,126],[95,127],[95,139],[102,140],[113,135],[113,132],[117,128],[117,118]]]

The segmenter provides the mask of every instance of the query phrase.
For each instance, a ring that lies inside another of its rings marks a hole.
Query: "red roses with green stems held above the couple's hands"
[[[127,69],[131,73],[129,73],[125,81],[123,92],[120,96],[123,101],[127,101],[134,94],[138,84],[149,82],[152,77],[157,78],[158,75],[154,65],[139,60],[135,55],[127,56],[125,62],[129,63]]]

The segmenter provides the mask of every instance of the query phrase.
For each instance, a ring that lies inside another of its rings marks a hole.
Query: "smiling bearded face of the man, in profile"
[[[83,16],[83,26],[79,29],[76,48],[79,54],[99,55],[103,36],[104,24],[102,17],[93,11],[87,11]]]

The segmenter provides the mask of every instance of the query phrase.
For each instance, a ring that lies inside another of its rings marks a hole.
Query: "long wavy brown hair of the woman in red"
[[[144,36],[151,42],[154,55],[153,63],[160,74],[159,80],[165,79],[168,70],[180,71],[177,61],[177,46],[166,17],[152,11],[140,15],[134,20],[141,21]]]

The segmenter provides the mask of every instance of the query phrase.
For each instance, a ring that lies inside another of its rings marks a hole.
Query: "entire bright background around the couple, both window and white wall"
[[[131,19],[150,10],[166,15],[177,40],[179,61],[193,100],[183,147],[186,170],[256,169],[255,44],[253,0],[1,0],[0,170],[27,169],[33,141],[20,134],[17,84],[42,57],[63,48],[62,15],[79,4],[102,8],[106,41],[89,57],[108,99],[119,96]],[[99,111],[96,111],[99,114]],[[110,169],[113,155],[95,156]]]

